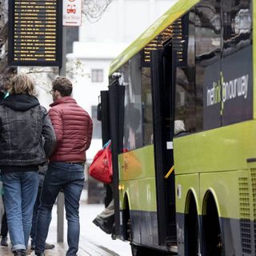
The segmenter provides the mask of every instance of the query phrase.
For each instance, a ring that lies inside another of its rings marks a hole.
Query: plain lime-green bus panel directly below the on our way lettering
[[[175,174],[244,170],[256,158],[254,120],[174,138]]]

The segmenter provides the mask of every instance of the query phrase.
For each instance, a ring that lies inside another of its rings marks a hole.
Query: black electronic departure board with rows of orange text
[[[62,65],[62,1],[9,0],[8,64]]]

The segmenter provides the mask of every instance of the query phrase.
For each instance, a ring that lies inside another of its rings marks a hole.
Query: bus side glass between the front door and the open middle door
[[[119,72],[119,82],[126,86],[123,145],[134,150],[153,143],[150,67],[142,66],[137,54]]]

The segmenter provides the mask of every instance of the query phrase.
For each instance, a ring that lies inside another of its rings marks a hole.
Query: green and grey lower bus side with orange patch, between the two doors
[[[132,240],[139,245],[158,245],[154,146],[119,154],[120,210],[128,198]],[[123,225],[125,225],[123,223]],[[124,226],[123,226],[124,227]]]

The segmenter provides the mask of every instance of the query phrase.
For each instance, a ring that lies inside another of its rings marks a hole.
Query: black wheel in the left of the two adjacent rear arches
[[[194,197],[190,198],[189,213],[185,216],[185,255],[200,255],[198,211]]]

